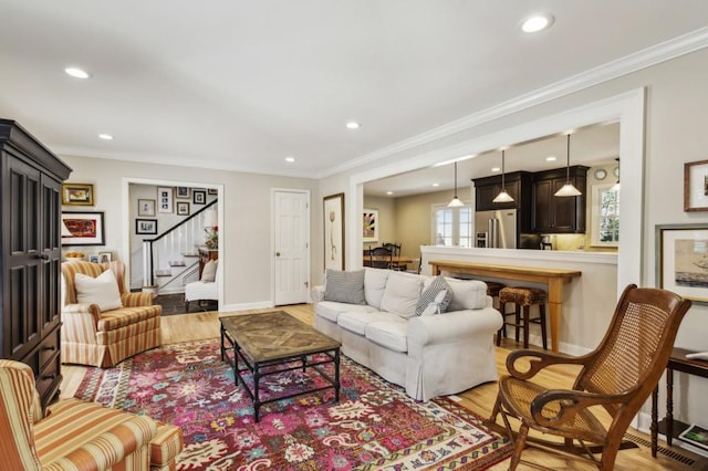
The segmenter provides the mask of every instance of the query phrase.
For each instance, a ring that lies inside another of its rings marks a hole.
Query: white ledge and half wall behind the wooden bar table
[[[439,245],[424,245],[420,249],[423,272],[426,274],[433,274],[431,261],[470,264],[471,269],[449,268],[445,271],[448,275],[497,281],[508,286],[527,285],[549,290],[549,300],[553,295],[548,283],[549,273],[570,272],[565,275],[559,274],[556,281],[552,282],[562,286],[561,290],[553,290],[560,296],[556,301],[561,308],[555,314],[556,333],[552,333],[552,336],[556,338],[553,349],[571,355],[582,355],[595,348],[607,329],[620,296],[616,252],[465,249]],[[511,269],[500,273],[492,265]],[[471,273],[470,270],[477,273]],[[545,274],[546,279],[523,275],[524,271],[538,272],[541,276]],[[575,272],[579,274],[573,275]],[[550,321],[553,322],[553,315]],[[540,335],[532,331],[531,343],[541,345],[540,341]]]

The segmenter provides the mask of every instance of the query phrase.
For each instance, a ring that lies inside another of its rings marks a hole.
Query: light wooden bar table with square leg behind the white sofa
[[[574,278],[580,276],[582,274],[580,270],[539,269],[533,266],[497,265],[450,260],[431,260],[428,264],[433,268],[433,275],[438,275],[446,271],[546,284],[551,316],[551,349],[554,353],[559,352],[559,332],[563,308],[563,284],[570,283]]]

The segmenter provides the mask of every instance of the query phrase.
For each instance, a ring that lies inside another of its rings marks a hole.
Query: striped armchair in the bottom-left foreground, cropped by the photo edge
[[[43,416],[32,368],[0,359],[1,470],[174,470],[179,427],[65,399]]]

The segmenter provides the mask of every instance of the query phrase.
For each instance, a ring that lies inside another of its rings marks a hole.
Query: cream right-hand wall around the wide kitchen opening
[[[708,147],[708,50],[700,50],[658,65],[631,73],[618,78],[571,93],[560,98],[528,107],[492,122],[472,125],[469,128],[440,138],[425,146],[408,148],[379,160],[395,164],[404,160],[421,159],[424,155],[435,153],[436,148],[450,148],[456,144],[483,138],[504,129],[522,126],[534,119],[562,113],[593,102],[610,98],[641,87],[646,87],[645,113],[645,171],[643,200],[634,207],[643,211],[642,227],[642,275],[639,284],[655,285],[654,227],[659,223],[708,222],[708,213],[687,213],[683,211],[684,163],[706,159]],[[513,143],[509,143],[513,144]],[[622,143],[621,143],[622,146]],[[321,190],[324,193],[346,192],[347,201],[356,205],[351,193],[350,179],[364,172],[366,163],[347,172],[323,179]],[[636,169],[634,169],[636,171]],[[623,175],[633,168],[622,166]],[[625,208],[623,206],[623,208]],[[351,263],[347,259],[347,263]],[[350,265],[350,268],[353,268]],[[615,297],[616,293],[607,293]],[[592,315],[587,313],[587,315]],[[708,350],[708,307],[695,303],[686,315],[679,329],[676,345]],[[583,344],[587,342],[582,341]],[[708,395],[708,380],[686,375],[677,375],[675,390],[676,417],[685,421],[698,421],[708,426],[708,405],[702,397]],[[662,388],[662,399],[664,400]],[[663,412],[660,412],[663,414]]]

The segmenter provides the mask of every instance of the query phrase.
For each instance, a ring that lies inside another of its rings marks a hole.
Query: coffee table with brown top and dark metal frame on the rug
[[[260,421],[263,404],[334,388],[335,401],[340,401],[340,347],[341,343],[327,337],[314,327],[275,311],[221,317],[221,360],[233,368],[236,386],[239,381],[253,401],[256,421]],[[232,355],[228,352],[232,350]],[[243,364],[243,368],[240,364]],[[334,364],[334,377],[323,365]],[[331,386],[299,390],[267,400],[260,397],[260,380],[270,375],[306,368],[314,369]],[[241,371],[253,376],[253,389],[241,377]]]

